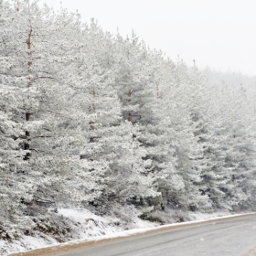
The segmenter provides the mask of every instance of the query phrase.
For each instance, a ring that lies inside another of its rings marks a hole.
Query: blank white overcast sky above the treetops
[[[59,0],[40,0],[59,8]],[[132,29],[150,48],[187,65],[256,76],[256,0],[62,0],[84,22],[124,37]]]

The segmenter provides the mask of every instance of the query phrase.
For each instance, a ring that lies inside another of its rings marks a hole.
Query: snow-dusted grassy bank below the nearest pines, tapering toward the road
[[[86,209],[60,208],[58,215],[59,221],[61,219],[69,219],[69,234],[66,237],[59,237],[59,234],[54,233],[45,234],[42,231],[35,231],[33,234],[24,235],[18,240],[0,240],[0,255],[58,244],[59,238],[62,238],[62,241],[88,240],[102,235],[110,236],[126,229],[159,226],[158,223],[139,219],[135,213],[133,216],[119,213],[118,216],[101,217]]]

